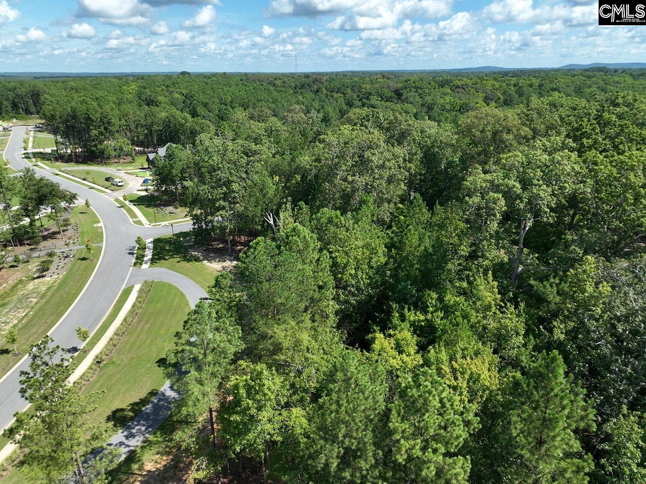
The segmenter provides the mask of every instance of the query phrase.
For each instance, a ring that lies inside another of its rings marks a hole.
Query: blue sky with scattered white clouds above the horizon
[[[0,71],[300,71],[646,61],[597,0],[0,0]]]

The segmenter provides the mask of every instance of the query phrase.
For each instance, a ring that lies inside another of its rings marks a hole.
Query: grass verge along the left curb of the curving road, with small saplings
[[[85,241],[89,238],[95,243],[103,242],[103,231],[100,227],[94,227],[94,224],[99,222],[94,211],[77,207],[72,216],[79,222],[79,240]],[[100,256],[101,247],[95,247],[95,260],[92,261],[87,257],[85,249],[79,249],[65,275],[43,291],[30,310],[14,324],[19,334],[18,351],[22,354],[15,356],[11,348],[5,348],[3,342],[3,348],[0,348],[0,377],[29,351],[32,344],[40,341],[72,306],[94,272]]]

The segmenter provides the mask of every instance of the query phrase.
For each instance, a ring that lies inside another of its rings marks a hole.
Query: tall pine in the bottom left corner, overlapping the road
[[[73,472],[87,483],[85,458],[105,442],[105,426],[91,425],[98,394],[81,394],[78,384],[68,384],[72,372],[68,358],[50,337],[32,348],[29,371],[21,372],[21,395],[34,412],[17,414],[14,442],[25,450],[21,470],[30,481],[68,478]]]

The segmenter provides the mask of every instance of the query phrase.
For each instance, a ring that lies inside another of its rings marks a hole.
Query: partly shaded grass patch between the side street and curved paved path
[[[191,232],[176,233],[175,242],[172,241],[172,235],[156,238],[152,243],[151,267],[171,269],[207,289],[213,284],[218,271],[207,266],[199,258],[189,255],[187,246],[192,243]]]

